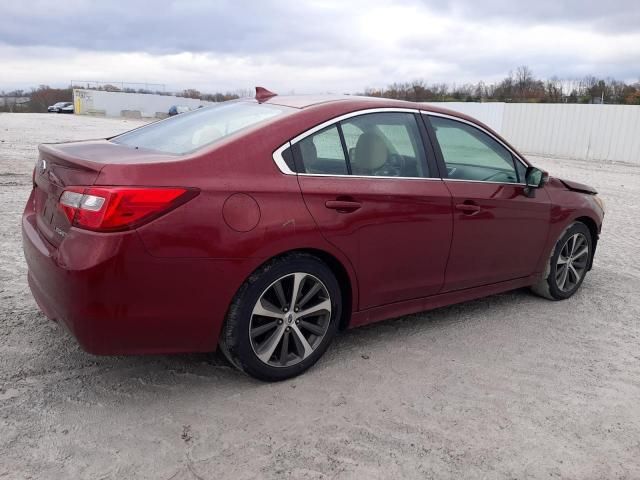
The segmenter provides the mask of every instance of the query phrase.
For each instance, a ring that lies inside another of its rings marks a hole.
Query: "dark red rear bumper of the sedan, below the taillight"
[[[22,218],[29,286],[43,313],[87,352],[144,354],[212,351],[242,262],[157,258],[137,232],[72,228],[58,248]],[[249,268],[249,267],[247,267]]]

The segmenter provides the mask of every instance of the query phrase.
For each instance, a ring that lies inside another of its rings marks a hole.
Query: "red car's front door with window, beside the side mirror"
[[[489,132],[446,116],[427,119],[454,209],[443,291],[534,273],[549,229],[546,191],[524,195],[526,165]]]

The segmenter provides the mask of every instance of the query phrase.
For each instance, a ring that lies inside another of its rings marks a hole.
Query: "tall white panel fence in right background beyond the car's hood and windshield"
[[[434,103],[486,123],[522,153],[640,164],[640,106]]]

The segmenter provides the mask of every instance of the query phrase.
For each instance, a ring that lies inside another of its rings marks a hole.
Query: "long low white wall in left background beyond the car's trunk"
[[[73,105],[79,115],[105,117],[162,118],[173,105],[198,108],[211,102],[173,95],[105,92],[102,90],[73,90]]]

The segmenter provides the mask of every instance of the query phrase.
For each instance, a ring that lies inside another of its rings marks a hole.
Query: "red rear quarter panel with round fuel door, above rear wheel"
[[[273,162],[273,151],[284,141],[269,130],[256,131],[175,162],[107,165],[96,184],[198,188],[197,197],[139,227],[138,233],[149,254],[157,258],[236,261],[237,274],[204,282],[225,282],[235,294],[268,259],[291,250],[320,250],[346,270],[355,306],[353,266],[320,234],[296,176],[284,175]],[[220,299],[220,304],[229,305],[232,297]]]

